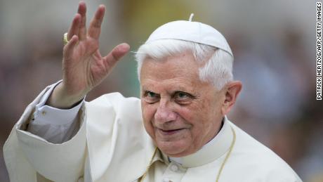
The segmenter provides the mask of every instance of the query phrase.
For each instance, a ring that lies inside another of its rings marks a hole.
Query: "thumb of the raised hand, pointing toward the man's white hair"
[[[110,53],[103,58],[103,61],[107,67],[113,67],[120,58],[128,53],[130,46],[126,43],[119,44],[114,47]]]

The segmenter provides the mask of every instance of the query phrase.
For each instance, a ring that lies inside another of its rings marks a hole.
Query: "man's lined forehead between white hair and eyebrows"
[[[195,89],[205,84],[199,79],[200,66],[190,52],[161,60],[146,58],[140,71],[140,85],[143,89],[159,86],[167,89]]]

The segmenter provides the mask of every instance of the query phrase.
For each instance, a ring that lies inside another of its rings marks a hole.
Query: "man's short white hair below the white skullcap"
[[[233,80],[233,58],[230,53],[213,46],[177,39],[160,39],[140,46],[135,55],[138,62],[138,78],[140,79],[140,70],[145,58],[162,60],[185,51],[192,51],[197,62],[205,62],[204,66],[199,67],[199,79],[202,81],[210,82],[220,90]]]

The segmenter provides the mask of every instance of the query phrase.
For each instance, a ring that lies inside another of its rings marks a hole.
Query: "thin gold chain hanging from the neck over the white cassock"
[[[231,152],[232,152],[233,146],[235,146],[235,138],[236,138],[236,135],[235,135],[235,130],[232,128],[232,126],[231,126],[231,130],[232,130],[232,133],[233,133],[233,140],[232,140],[232,142],[231,142],[231,145],[230,145],[229,151],[228,151],[227,155],[225,155],[225,159],[223,160],[223,162],[222,162],[222,164],[221,164],[221,167],[220,167],[220,169],[218,170],[218,175],[216,176],[216,182],[218,182],[218,179],[220,178],[220,174],[221,174],[221,172],[222,172],[222,170],[223,170],[223,167],[224,167],[224,165],[225,165],[225,162],[227,162],[227,160],[228,160],[228,158],[230,157],[230,154],[231,154]],[[152,166],[152,161],[154,160],[154,156],[156,155],[156,152],[157,152],[157,146],[156,146],[156,148],[154,148],[154,154],[152,154],[152,158],[150,159],[150,163],[149,163],[149,165],[148,165],[148,167],[147,167],[147,169],[146,169],[145,173],[143,174],[143,176],[141,176],[141,177],[138,179],[138,181],[143,182],[143,181],[145,180],[145,178],[146,178],[146,176],[147,176],[147,174],[148,174],[148,172],[149,172],[149,169],[150,169],[150,167]]]

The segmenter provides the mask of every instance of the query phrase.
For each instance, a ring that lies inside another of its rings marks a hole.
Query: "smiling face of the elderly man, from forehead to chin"
[[[147,133],[171,157],[190,155],[215,136],[223,118],[223,91],[199,79],[190,52],[152,60],[140,72],[141,105]]]

